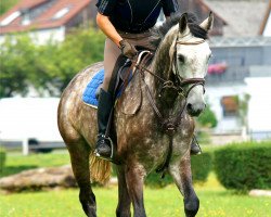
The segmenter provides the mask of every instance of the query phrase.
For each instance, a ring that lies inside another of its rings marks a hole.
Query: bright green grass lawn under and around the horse
[[[7,167],[22,169],[22,166],[24,168],[57,166],[67,164],[68,162],[66,152],[30,156],[11,154],[8,155]],[[7,169],[5,173],[8,173]],[[271,217],[270,197],[251,197],[233,194],[218,183],[214,174],[210,174],[206,183],[196,184],[195,190],[201,200],[201,208],[197,215],[199,217]],[[93,191],[96,195],[98,216],[115,216],[117,187],[94,188]],[[182,196],[173,184],[164,189],[145,188],[144,196],[149,217],[184,216]],[[50,192],[0,194],[0,216],[83,217],[85,215],[78,201],[78,189],[72,189]]]

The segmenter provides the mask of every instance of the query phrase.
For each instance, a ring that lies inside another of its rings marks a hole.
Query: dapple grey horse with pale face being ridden
[[[206,35],[212,26],[210,13],[196,24],[190,14],[166,22],[156,34],[157,50],[151,63],[137,65],[133,79],[114,112],[118,206],[116,216],[144,217],[144,177],[154,169],[169,173],[184,196],[186,216],[195,216],[199,200],[192,186],[190,144],[192,116],[205,108],[204,77],[210,49]],[[96,110],[81,101],[85,87],[103,67],[93,64],[70,81],[59,105],[59,129],[70,154],[79,200],[87,216],[96,216],[92,181],[109,178],[111,163],[94,155]],[[138,73],[137,73],[138,72]]]

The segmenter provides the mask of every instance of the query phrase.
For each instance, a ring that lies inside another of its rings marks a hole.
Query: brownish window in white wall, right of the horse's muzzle
[[[228,95],[221,98],[221,106],[224,117],[235,117],[238,115],[238,98],[237,95]]]

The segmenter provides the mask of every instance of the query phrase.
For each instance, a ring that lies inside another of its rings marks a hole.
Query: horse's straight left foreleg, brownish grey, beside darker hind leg
[[[143,183],[145,171],[140,165],[128,164],[126,168],[126,182],[133,205],[134,217],[145,217],[143,202]]]

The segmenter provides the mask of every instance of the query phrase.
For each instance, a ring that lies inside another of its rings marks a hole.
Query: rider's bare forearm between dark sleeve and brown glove
[[[109,21],[109,17],[98,12],[96,14],[96,24],[101,28],[101,30],[114,42],[117,47],[120,47],[119,41],[122,38],[117,33],[116,28]]]

